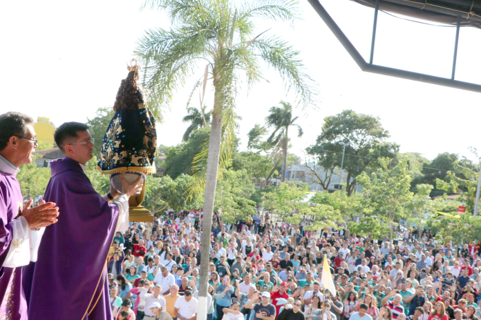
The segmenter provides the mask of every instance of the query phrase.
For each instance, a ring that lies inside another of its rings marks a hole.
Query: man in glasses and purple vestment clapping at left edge
[[[17,173],[37,148],[33,119],[19,112],[0,115],[0,319],[26,320],[22,267],[37,259],[46,226],[55,223],[55,203],[23,206]],[[22,210],[23,208],[23,210]]]

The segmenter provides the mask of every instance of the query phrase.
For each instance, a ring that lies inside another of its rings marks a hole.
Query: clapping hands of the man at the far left
[[[32,202],[33,199],[30,199],[21,212],[21,216],[28,222],[28,228],[44,228],[58,221],[59,207],[56,207],[55,203],[42,200],[39,202],[39,206],[30,208]]]

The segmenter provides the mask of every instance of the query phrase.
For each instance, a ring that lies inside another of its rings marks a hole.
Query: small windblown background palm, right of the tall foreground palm
[[[290,103],[281,101],[282,107],[272,107],[270,114],[265,117],[267,127],[274,127],[274,132],[267,138],[267,143],[281,143],[283,151],[281,182],[285,181],[285,167],[287,165],[287,148],[289,148],[289,127],[297,127],[297,137],[302,137],[303,131],[299,124],[294,123],[299,117],[292,117],[292,106]]]

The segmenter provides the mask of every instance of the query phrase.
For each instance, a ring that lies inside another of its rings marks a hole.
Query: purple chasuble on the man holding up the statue
[[[37,262],[28,266],[30,318],[112,319],[106,258],[119,208],[95,192],[77,161],[57,159],[50,167],[44,199],[57,203],[60,214],[45,230]]]

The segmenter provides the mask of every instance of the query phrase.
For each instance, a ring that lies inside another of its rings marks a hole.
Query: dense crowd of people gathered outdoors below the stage
[[[162,312],[196,319],[202,213],[117,232],[109,261],[114,319],[161,319]],[[478,320],[479,245],[452,248],[429,230],[406,229],[391,242],[308,225],[272,223],[262,211],[225,225],[214,214],[208,319]],[[335,294],[323,288],[323,257]]]

